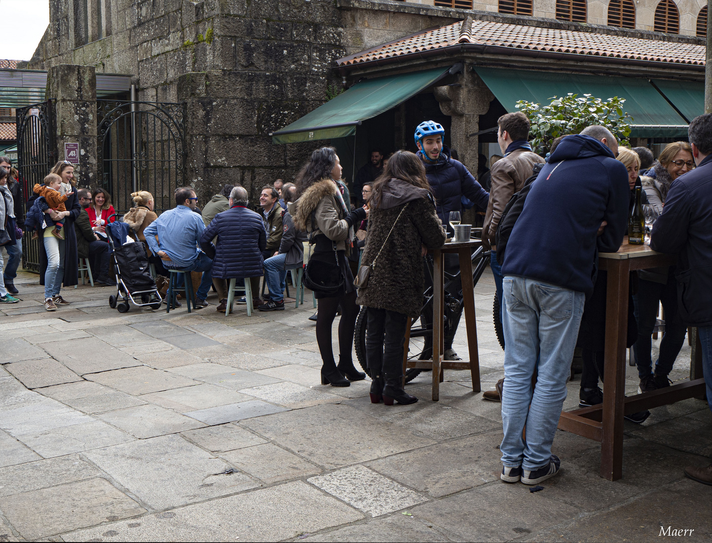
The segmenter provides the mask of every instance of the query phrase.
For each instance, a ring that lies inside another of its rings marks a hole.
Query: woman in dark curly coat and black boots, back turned
[[[403,343],[407,317],[423,307],[427,249],[445,243],[445,231],[422,161],[398,151],[373,185],[368,239],[361,265],[371,265],[360,305],[368,307],[366,358],[373,379],[371,401],[392,406],[418,399],[402,386]]]

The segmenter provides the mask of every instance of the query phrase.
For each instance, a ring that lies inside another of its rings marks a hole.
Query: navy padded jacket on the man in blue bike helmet
[[[487,209],[489,193],[464,164],[450,158],[450,149],[446,145],[443,145],[440,158],[435,164],[427,162],[422,151],[418,152],[418,156],[425,166],[425,174],[435,196],[436,210],[443,224],[449,223],[450,211],[461,211],[462,196],[467,196],[480,211]]]

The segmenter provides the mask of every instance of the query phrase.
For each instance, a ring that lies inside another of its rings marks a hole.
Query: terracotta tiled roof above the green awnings
[[[382,46],[340,58],[337,63],[340,66],[355,65],[467,43],[529,51],[686,65],[703,66],[705,63],[705,46],[695,43],[676,43],[557,28],[475,21],[469,17],[464,21],[423,31],[399,41],[385,43]]]

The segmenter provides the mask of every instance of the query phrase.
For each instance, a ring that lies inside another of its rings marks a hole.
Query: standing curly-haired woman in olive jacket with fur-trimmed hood
[[[332,386],[349,386],[350,381],[360,381],[366,374],[357,371],[351,356],[354,327],[358,315],[356,289],[347,256],[354,241],[354,224],[364,220],[364,208],[349,211],[335,179],[341,179],[339,157],[333,147],[322,147],[312,153],[311,160],[297,176],[296,211],[294,224],[309,234],[313,243],[310,260],[337,265],[343,286],[336,294],[314,292],[319,307],[316,321],[316,340],[323,360],[321,383]],[[334,361],[331,325],[341,307],[339,322],[339,365]]]

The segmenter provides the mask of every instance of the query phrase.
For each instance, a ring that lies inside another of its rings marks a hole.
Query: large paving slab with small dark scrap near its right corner
[[[142,503],[155,510],[201,502],[260,486],[180,436],[162,436],[86,453]],[[137,460],[140,460],[137,462]]]

